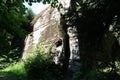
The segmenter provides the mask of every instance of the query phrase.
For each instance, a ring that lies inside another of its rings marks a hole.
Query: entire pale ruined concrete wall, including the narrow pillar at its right
[[[56,64],[59,64],[59,60],[65,56],[62,54],[64,52],[62,38],[67,34],[70,45],[69,69],[72,71],[79,70],[80,50],[77,29],[73,26],[68,27],[67,33],[62,29],[65,23],[65,19],[62,16],[65,16],[69,12],[70,1],[59,0],[63,4],[63,8],[58,10],[49,6],[33,19],[31,22],[33,24],[33,32],[26,37],[23,59],[26,58],[27,54],[34,52],[33,47],[47,42],[45,45],[54,45],[52,49],[53,53],[56,53],[54,61]],[[61,40],[60,45],[57,45],[56,43],[59,40]]]

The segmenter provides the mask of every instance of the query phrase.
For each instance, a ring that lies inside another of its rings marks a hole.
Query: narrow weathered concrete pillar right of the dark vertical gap
[[[79,40],[76,27],[68,28],[69,34],[69,44],[70,44],[70,61],[69,68],[71,71],[76,72],[80,70],[80,50],[79,50]]]

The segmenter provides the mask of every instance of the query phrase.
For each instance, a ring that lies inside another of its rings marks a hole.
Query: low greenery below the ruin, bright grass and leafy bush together
[[[42,47],[30,55],[27,60],[20,61],[0,70],[0,76],[12,77],[16,80],[61,80],[59,66],[55,65],[49,53]]]

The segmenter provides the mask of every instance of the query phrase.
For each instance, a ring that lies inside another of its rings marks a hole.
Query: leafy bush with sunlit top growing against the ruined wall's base
[[[28,80],[61,80],[58,67],[52,62],[49,52],[44,47],[38,49],[25,61]]]

